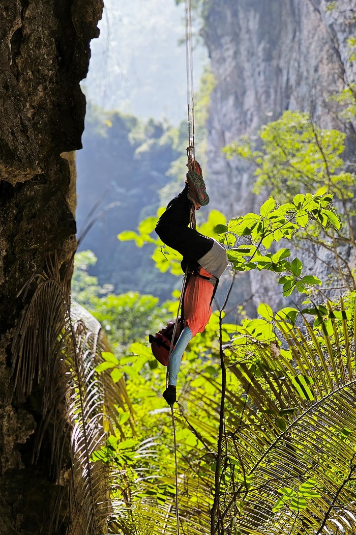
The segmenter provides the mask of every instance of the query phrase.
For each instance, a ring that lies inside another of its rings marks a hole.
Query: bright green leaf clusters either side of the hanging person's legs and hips
[[[311,286],[321,285],[321,280],[311,275],[302,276],[303,264],[298,258],[290,261],[289,249],[282,248],[276,253],[267,253],[266,250],[282,238],[290,240],[300,228],[307,226],[309,220],[322,228],[338,229],[340,222],[331,201],[329,194],[307,193],[295,195],[291,203],[278,205],[273,197],[269,197],[262,204],[259,214],[247,213],[230,219],[228,224],[220,212],[213,210],[199,230],[228,247],[228,259],[235,271],[273,271],[280,279],[279,284],[283,285],[284,296],[290,295],[294,289],[305,293]],[[141,222],[137,233],[125,231],[118,235],[118,239],[135,240],[140,247],[144,243],[155,243],[152,258],[156,267],[162,272],[171,269],[174,274],[180,274],[180,255],[150,236],[155,222],[155,218],[148,218]]]

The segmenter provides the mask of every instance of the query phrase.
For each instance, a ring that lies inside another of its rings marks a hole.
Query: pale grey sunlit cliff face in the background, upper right
[[[207,3],[204,39],[216,80],[208,120],[208,174],[213,177],[208,186],[212,205],[228,217],[256,210],[260,199],[251,193],[251,166],[237,158],[227,161],[222,147],[241,134],[255,133],[287,109],[313,112],[321,126],[340,128],[328,111],[326,97],[356,78],[346,42],[355,34],[356,2],[340,0],[331,11],[327,4],[326,0]],[[355,122],[347,142],[353,161],[354,126]],[[321,263],[313,265],[314,273],[322,275],[322,269]],[[241,297],[254,294],[256,302],[277,305],[275,284],[266,274],[257,275],[244,282]]]

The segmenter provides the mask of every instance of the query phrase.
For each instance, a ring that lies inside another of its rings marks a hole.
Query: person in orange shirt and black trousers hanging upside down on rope
[[[188,266],[182,306],[184,323],[169,356],[168,387],[163,393],[168,405],[176,401],[177,375],[184,350],[197,333],[204,331],[212,313],[216,286],[228,264],[222,244],[188,226],[191,206],[198,210],[209,202],[200,165],[190,161],[189,169],[183,191],[168,203],[155,229],[162,242],[183,256],[181,266],[184,272]],[[155,339],[150,337],[152,340]]]

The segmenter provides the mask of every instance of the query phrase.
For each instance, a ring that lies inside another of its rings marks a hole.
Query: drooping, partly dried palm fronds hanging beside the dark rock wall
[[[123,379],[114,384],[110,375],[95,370],[103,362],[102,351],[110,348],[88,312],[76,304],[71,310],[68,273],[61,277],[55,256],[25,288],[31,291],[37,280],[14,336],[12,395],[23,402],[35,393],[40,400],[33,460],[40,457],[43,442],[49,441],[52,473],[61,484],[67,469],[62,467],[62,454],[71,451],[67,533],[91,535],[107,532],[111,515],[109,471],[91,455],[104,445],[110,429],[115,427],[123,436],[117,415],[119,407],[130,411],[130,403]],[[61,521],[59,510],[63,510],[60,500],[53,512],[54,532]]]

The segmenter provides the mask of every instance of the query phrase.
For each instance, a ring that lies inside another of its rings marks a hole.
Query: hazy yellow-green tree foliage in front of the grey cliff
[[[355,105],[353,87],[349,86],[338,98],[344,103],[345,113],[350,114]],[[277,202],[295,202],[298,195],[303,198],[311,190],[321,196],[328,192],[333,197],[339,213],[325,208],[310,221],[307,230],[298,232],[294,241],[297,247],[307,247],[314,256],[315,247],[329,251],[335,258],[334,267],[328,264],[332,276],[338,277],[345,288],[353,289],[351,267],[339,250],[340,245],[354,247],[355,243],[352,218],[356,215],[353,193],[356,175],[345,171],[342,159],[346,134],[319,128],[305,112],[286,111],[276,121],[263,126],[258,136],[257,143],[249,136],[242,136],[224,149],[225,154],[253,163],[257,177],[254,191],[259,193],[267,187]],[[305,227],[308,218],[301,208],[299,225]]]

